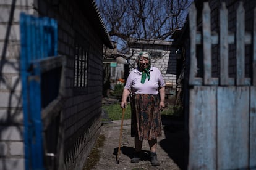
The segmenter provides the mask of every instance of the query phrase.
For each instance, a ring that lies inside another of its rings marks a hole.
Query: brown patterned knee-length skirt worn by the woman
[[[159,95],[135,94],[130,105],[132,108],[131,136],[139,140],[153,140],[161,136],[161,113]]]

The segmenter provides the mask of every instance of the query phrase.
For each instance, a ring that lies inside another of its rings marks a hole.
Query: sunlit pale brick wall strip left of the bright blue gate
[[[25,169],[19,18],[32,14],[32,3],[0,1],[0,169]]]

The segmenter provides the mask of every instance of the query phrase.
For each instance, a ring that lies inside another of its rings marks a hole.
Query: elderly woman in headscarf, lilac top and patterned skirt
[[[160,163],[156,156],[157,137],[161,136],[161,113],[164,107],[164,80],[160,70],[151,66],[150,54],[140,52],[137,68],[128,76],[122,93],[121,108],[127,107],[127,97],[132,94],[131,136],[134,137],[135,153],[132,163],[139,163],[143,139],[148,140],[150,161]]]

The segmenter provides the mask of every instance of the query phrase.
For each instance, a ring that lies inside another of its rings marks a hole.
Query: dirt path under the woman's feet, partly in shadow
[[[151,166],[148,160],[148,142],[143,141],[143,160],[130,163],[134,151],[134,138],[130,137],[130,120],[124,121],[119,164],[116,155],[119,144],[121,121],[103,124],[101,136],[105,137],[103,146],[98,147],[99,160],[91,169],[184,169],[184,131],[182,123],[163,121],[163,135],[158,138],[158,160],[160,166]]]

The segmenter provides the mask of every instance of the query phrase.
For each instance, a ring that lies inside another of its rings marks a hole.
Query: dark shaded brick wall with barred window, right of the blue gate
[[[84,7],[71,1],[61,1],[58,7],[51,1],[38,1],[38,15],[58,20],[58,54],[67,56],[66,103],[64,104],[64,161],[67,169],[82,169],[101,127],[101,97],[103,76],[102,42]],[[88,87],[84,94],[74,92],[75,37],[89,44]]]

